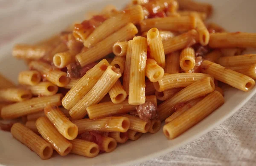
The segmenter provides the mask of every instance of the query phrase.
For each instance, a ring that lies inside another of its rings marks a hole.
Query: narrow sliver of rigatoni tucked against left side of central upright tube
[[[132,53],[133,40],[129,40],[127,43],[127,53],[125,58],[125,69],[123,74],[123,87],[126,94],[129,94],[129,83],[130,83],[130,69],[131,69],[131,53]]]

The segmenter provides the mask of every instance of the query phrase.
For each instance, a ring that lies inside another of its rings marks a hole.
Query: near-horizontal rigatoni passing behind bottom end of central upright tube
[[[157,106],[157,98],[155,96],[146,96],[146,100]],[[87,107],[87,114],[90,119],[99,117],[108,117],[116,114],[124,114],[136,110],[136,106],[128,103],[128,99],[122,103],[115,104],[113,102],[99,103]]]

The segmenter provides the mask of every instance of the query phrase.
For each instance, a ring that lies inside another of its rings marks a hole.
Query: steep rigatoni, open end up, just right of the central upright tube
[[[150,50],[150,57],[153,58],[157,64],[164,69],[166,61],[163,50],[163,42],[158,29],[152,28],[148,31],[147,42]]]

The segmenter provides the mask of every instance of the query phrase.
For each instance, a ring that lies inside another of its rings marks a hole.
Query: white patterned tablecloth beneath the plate
[[[0,49],[20,34],[72,12],[81,3],[86,0],[0,0]],[[256,95],[206,135],[171,153],[133,166],[253,166],[256,165],[255,141]]]

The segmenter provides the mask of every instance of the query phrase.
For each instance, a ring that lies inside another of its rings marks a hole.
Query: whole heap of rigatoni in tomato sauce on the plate
[[[256,34],[205,23],[212,6],[192,0],[132,0],[108,6],[34,45],[16,86],[0,76],[1,124],[42,159],[95,157],[156,133],[174,139],[224,103],[221,83],[248,92],[256,79]],[[157,109],[155,109],[157,108]],[[154,114],[154,116],[153,116]]]

